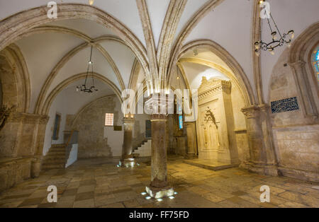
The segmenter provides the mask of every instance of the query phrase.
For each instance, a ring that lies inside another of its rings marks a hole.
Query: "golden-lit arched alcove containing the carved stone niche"
[[[254,104],[254,94],[240,65],[216,42],[200,40],[183,47],[177,66],[169,86],[198,91],[197,115],[185,117],[186,146],[191,150],[186,153],[215,165],[249,160],[242,108]]]

